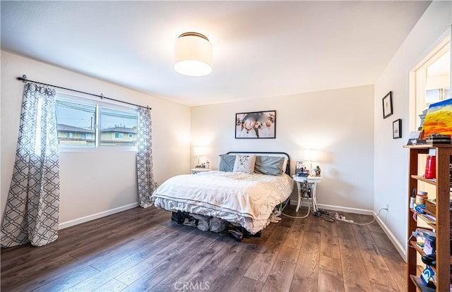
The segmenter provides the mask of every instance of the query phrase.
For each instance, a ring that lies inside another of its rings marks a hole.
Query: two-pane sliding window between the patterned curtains
[[[135,146],[136,109],[57,94],[57,130],[63,147]]]

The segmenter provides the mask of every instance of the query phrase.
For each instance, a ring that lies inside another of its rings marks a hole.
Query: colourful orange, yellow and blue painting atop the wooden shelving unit
[[[430,104],[422,124],[420,139],[426,139],[434,133],[452,136],[452,99]]]

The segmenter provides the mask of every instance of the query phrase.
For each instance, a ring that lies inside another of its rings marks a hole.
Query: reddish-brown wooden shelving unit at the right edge
[[[409,175],[409,194],[408,204],[410,203],[410,193],[413,188],[418,190],[418,182],[429,183],[436,189],[436,222],[426,220],[425,217],[418,216],[436,231],[436,291],[449,291],[451,285],[451,248],[450,248],[450,228],[451,228],[451,212],[450,203],[450,169],[452,157],[452,145],[410,145],[404,146],[410,150],[410,175]],[[418,160],[420,154],[428,154],[429,149],[436,149],[436,180],[424,178],[418,174]],[[412,218],[414,210],[408,211],[408,237],[417,228],[417,222]],[[434,288],[424,286],[418,276],[417,269],[417,253],[424,255],[415,241],[408,243],[408,291],[435,291]]]

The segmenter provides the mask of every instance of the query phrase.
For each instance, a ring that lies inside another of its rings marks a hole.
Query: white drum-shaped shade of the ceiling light
[[[174,43],[174,70],[189,76],[212,72],[212,45],[205,35],[184,32]]]

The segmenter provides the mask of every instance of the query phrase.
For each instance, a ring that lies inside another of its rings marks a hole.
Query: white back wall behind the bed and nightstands
[[[270,110],[276,110],[275,139],[234,139],[236,113]],[[304,150],[321,150],[319,204],[357,212],[374,207],[373,86],[192,107],[191,143],[210,150],[201,159],[213,169],[227,151],[282,151],[295,162]]]

